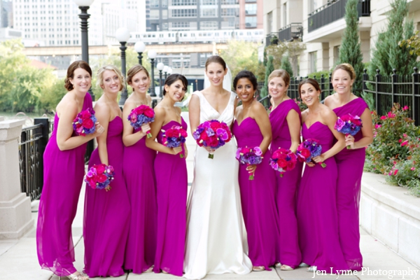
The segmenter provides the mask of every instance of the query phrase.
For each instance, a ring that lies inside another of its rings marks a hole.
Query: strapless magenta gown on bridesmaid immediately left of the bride
[[[181,118],[181,126],[187,130],[187,124]],[[162,126],[168,130],[180,124],[171,120]],[[162,130],[158,142],[162,144]],[[182,147],[182,153],[184,148]],[[155,159],[156,190],[158,197],[158,245],[156,248],[155,267],[159,273],[164,270],[176,276],[182,276],[183,257],[186,241],[187,209],[187,164],[185,158],[168,153],[158,153]]]

